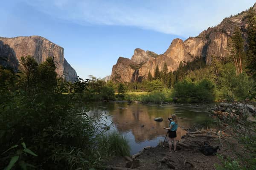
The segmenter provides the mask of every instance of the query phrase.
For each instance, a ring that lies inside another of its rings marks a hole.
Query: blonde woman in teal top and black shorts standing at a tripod
[[[177,121],[177,117],[175,114],[172,115],[172,122],[170,124],[170,127],[163,127],[164,129],[168,130],[168,139],[169,139],[169,152],[172,153],[172,141],[174,143],[174,152],[176,151],[176,147],[177,147],[177,141],[176,141],[176,137],[177,137],[177,133],[176,130],[178,128],[178,121]]]

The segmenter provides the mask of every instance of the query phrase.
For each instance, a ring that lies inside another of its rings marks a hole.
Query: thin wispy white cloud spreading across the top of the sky
[[[253,5],[253,0],[218,1],[26,0],[26,3],[52,17],[82,25],[134,26],[180,36],[195,36],[224,17]]]

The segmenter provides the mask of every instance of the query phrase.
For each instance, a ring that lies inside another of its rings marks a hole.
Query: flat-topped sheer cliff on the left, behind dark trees
[[[30,55],[34,57],[38,63],[44,62],[47,59],[47,57],[54,57],[54,60],[57,63],[56,72],[58,76],[66,74],[65,80],[72,82],[76,79],[76,71],[71,67],[70,64],[68,64],[66,59],[64,59],[64,48],[50,42],[44,37],[0,37],[0,44],[1,42],[3,43],[4,46],[9,46],[11,51],[14,52],[14,56],[12,52],[9,53],[7,63],[8,65],[12,65],[15,69],[17,69],[18,67],[17,61],[22,56]],[[14,58],[16,58],[16,61]]]

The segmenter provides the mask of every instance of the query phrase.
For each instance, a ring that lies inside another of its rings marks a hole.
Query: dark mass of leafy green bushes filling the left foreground
[[[21,78],[0,67],[0,169],[101,168],[105,157],[97,152],[97,140],[103,115],[89,116],[81,97],[93,91],[110,99],[113,87],[79,77],[74,85],[61,82],[52,58],[38,65],[22,57],[20,63]],[[74,93],[62,94],[70,86]]]

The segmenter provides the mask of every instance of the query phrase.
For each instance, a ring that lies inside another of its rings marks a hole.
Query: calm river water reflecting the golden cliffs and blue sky
[[[177,140],[186,134],[184,127],[192,127],[209,119],[208,105],[145,105],[129,104],[128,102],[101,102],[90,105],[90,114],[106,113],[108,125],[113,122],[110,130],[123,133],[131,146],[131,154],[135,154],[146,146],[157,146],[164,140],[168,126],[168,117],[175,113],[178,117]],[[163,122],[154,118],[162,117]],[[144,127],[142,127],[144,125]]]

